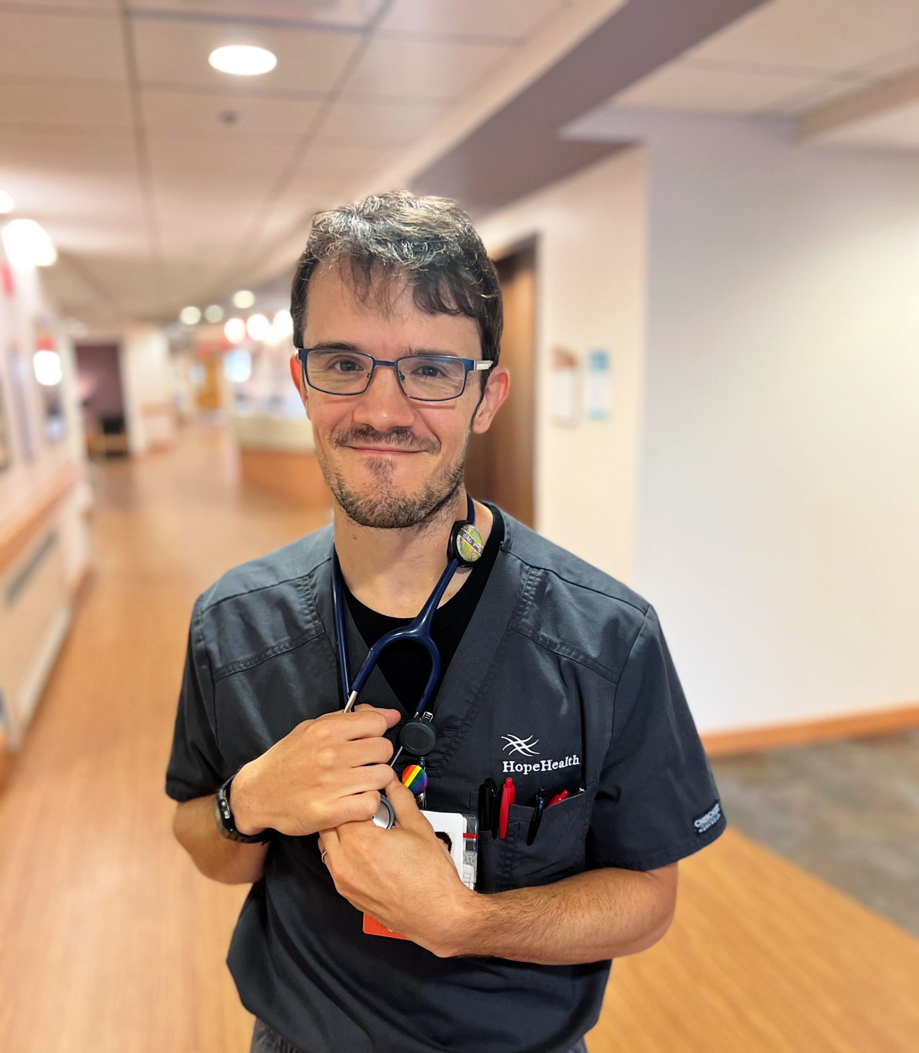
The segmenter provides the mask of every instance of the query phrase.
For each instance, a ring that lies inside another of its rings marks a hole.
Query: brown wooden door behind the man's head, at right
[[[511,393],[484,435],[473,435],[465,481],[473,497],[493,501],[533,525],[534,359],[536,356],[536,245],[495,261],[504,300],[499,362]]]

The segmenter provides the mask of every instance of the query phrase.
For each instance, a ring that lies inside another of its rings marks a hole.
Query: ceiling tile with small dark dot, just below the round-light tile
[[[311,99],[269,99],[215,93],[143,93],[146,126],[152,133],[193,132],[233,142],[260,137],[297,139],[319,110]]]

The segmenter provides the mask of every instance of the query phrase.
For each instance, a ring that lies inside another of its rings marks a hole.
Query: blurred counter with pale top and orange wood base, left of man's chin
[[[233,433],[244,485],[304,508],[332,505],[313,444],[313,428],[305,417],[237,414]]]

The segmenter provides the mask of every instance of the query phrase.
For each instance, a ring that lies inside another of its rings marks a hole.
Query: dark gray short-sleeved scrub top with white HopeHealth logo
[[[514,779],[506,837],[480,832],[478,890],[598,867],[652,870],[710,843],[724,817],[654,609],[503,515],[501,551],[435,704],[427,760],[435,811],[474,813],[484,778]],[[171,797],[213,793],[300,721],[341,708],[332,548],[327,526],[199,597]],[[351,621],[348,644],[354,672],[367,648]],[[361,701],[404,713],[379,670]],[[540,788],[573,796],[545,810],[527,847]],[[596,1022],[610,973],[608,961],[441,959],[364,934],[317,836],[277,833],[228,965],[246,1009],[308,1053],[563,1053]]]

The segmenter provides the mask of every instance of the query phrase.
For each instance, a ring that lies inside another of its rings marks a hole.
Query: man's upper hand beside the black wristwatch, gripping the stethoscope
[[[396,778],[383,734],[398,722],[397,710],[372,706],[304,720],[233,780],[236,829],[302,836],[373,818],[380,791]]]

